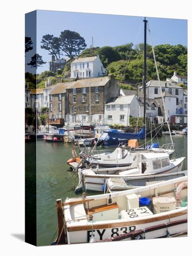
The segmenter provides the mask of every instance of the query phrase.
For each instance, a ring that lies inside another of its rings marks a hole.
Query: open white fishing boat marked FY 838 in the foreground
[[[138,229],[187,219],[187,176],[110,194],[57,200],[56,243],[93,243]],[[144,202],[148,206],[144,205]],[[173,234],[187,230],[173,226]],[[158,233],[155,233],[158,237]],[[161,235],[159,235],[160,237]],[[153,238],[151,236],[150,238]]]

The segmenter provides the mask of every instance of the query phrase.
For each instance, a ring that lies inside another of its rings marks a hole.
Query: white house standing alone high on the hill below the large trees
[[[76,58],[71,63],[71,78],[88,78],[106,75],[106,69],[99,59],[99,55],[86,58]]]

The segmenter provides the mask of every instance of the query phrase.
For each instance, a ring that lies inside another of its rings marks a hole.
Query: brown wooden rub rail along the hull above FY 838
[[[164,216],[153,216],[148,219],[136,220],[136,221],[125,221],[125,222],[115,222],[115,223],[104,223],[104,224],[96,224],[92,225],[84,225],[84,226],[75,226],[75,227],[67,227],[67,231],[83,231],[83,230],[91,230],[93,229],[110,229],[116,227],[126,227],[126,226],[135,226],[139,224],[146,224],[150,222],[158,222],[166,219],[171,219],[174,217],[182,216],[187,214],[187,210],[183,210],[182,212],[170,213],[167,212]]]

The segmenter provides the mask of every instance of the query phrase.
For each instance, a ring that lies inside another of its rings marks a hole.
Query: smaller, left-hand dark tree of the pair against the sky
[[[60,48],[60,38],[53,36],[53,34],[46,34],[43,35],[41,43],[41,49],[47,50],[49,54],[54,55],[56,59],[60,58],[60,55],[62,55]]]

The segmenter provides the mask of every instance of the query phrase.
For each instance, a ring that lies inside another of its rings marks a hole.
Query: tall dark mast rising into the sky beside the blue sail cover
[[[145,148],[146,148],[146,24],[147,20],[145,17],[144,21],[144,81],[143,81],[143,94],[144,94],[144,115],[143,115],[143,126],[145,128]]]

